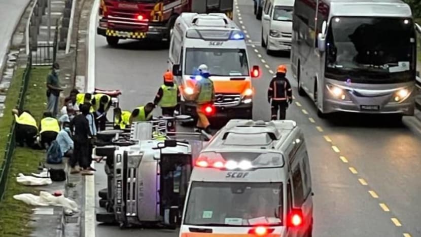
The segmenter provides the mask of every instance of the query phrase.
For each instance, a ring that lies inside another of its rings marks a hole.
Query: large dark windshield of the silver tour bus
[[[411,19],[335,17],[329,25],[326,77],[353,83],[415,80],[416,45]]]

